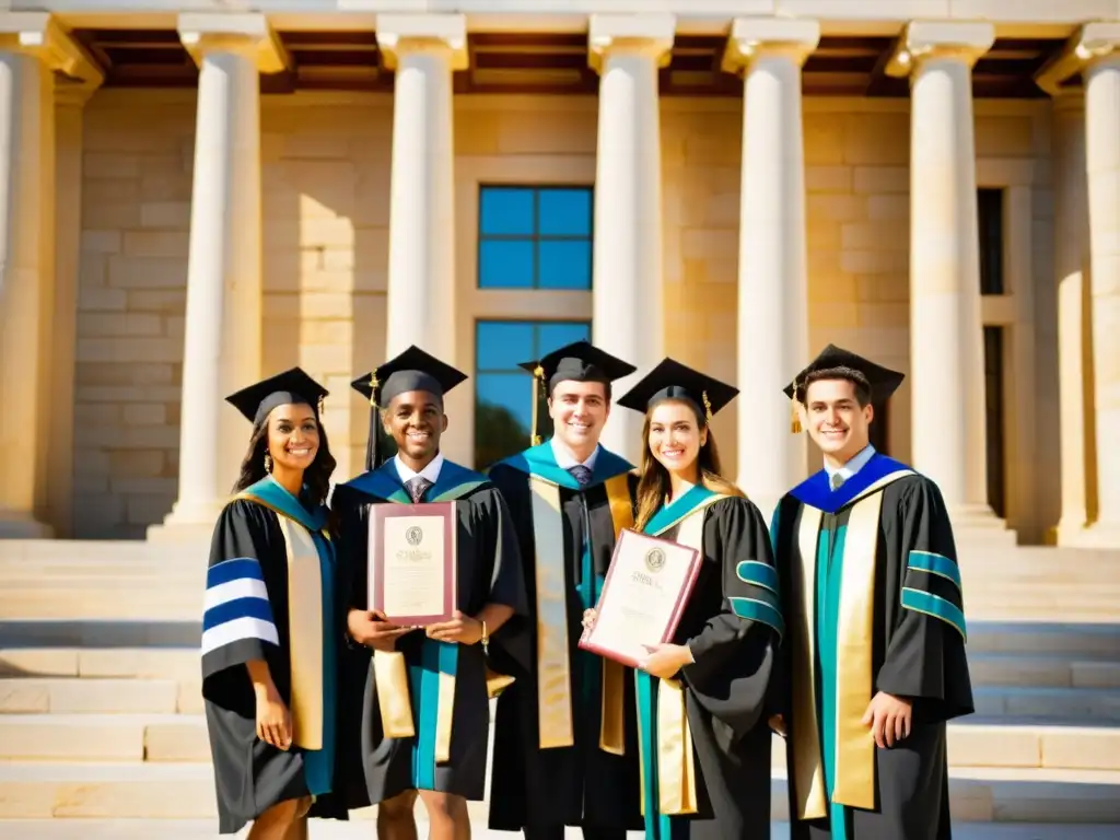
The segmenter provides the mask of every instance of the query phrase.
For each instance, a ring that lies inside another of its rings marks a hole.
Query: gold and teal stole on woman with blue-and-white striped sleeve
[[[283,534],[288,556],[292,744],[333,755],[335,663],[325,652],[325,642],[329,645],[332,638],[325,635],[325,628],[334,626],[334,547],[326,530],[327,508],[320,505],[308,511],[272,476],[246,487],[235,498],[274,512]]]

